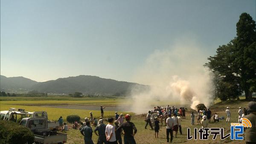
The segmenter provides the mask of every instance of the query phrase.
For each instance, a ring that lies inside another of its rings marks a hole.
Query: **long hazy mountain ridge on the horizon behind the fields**
[[[57,80],[37,82],[24,77],[0,77],[0,89],[10,93],[40,93],[71,94],[81,92],[83,95],[129,95],[131,89],[148,89],[149,86],[99,78],[90,75],[58,78]]]

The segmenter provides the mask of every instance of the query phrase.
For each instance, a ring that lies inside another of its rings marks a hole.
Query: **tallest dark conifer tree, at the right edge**
[[[256,24],[250,14],[240,15],[236,32],[231,68],[239,76],[246,99],[251,100],[256,92]]]

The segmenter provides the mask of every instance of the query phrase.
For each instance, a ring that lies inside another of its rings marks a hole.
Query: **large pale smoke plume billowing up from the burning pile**
[[[148,101],[156,98],[172,104],[189,104],[192,109],[200,103],[209,106],[213,86],[211,72],[203,66],[207,56],[200,46],[188,40],[186,44],[176,43],[169,49],[155,50],[134,75],[134,81],[150,85],[150,89],[132,89],[131,110],[145,113],[145,109],[152,109]]]

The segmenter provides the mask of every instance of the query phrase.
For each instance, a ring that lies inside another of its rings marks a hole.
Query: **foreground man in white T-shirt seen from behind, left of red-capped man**
[[[113,126],[114,118],[108,118],[108,124],[106,126],[105,135],[108,144],[117,144],[115,127]]]

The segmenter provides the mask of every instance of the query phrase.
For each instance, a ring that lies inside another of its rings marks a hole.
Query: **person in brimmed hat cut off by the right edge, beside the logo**
[[[247,127],[247,130],[245,131],[245,141],[246,144],[255,144],[256,143],[256,102],[250,101],[248,103],[248,112],[250,112],[249,115],[245,115],[244,118],[247,118],[251,124],[252,127]]]

